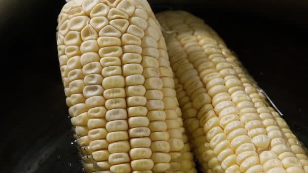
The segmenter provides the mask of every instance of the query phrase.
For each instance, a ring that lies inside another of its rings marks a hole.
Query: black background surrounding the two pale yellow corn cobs
[[[202,17],[308,146],[306,1],[149,1]],[[57,59],[64,0],[0,1],[0,172],[81,172]]]

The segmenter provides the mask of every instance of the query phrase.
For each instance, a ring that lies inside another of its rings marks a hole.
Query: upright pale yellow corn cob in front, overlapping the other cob
[[[148,3],[73,0],[58,24],[66,103],[86,172],[196,172]]]

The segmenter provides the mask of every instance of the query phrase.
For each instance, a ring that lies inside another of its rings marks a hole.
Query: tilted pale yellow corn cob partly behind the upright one
[[[207,172],[308,172],[305,149],[222,39],[186,12],[157,15],[193,151]]]

